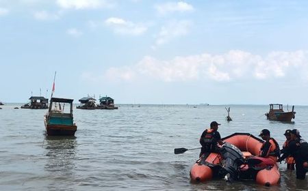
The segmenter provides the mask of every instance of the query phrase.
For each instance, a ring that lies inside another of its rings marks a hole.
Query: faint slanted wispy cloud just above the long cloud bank
[[[189,20],[174,20],[168,23],[160,29],[155,45],[159,46],[174,38],[188,34],[191,25],[192,23]]]

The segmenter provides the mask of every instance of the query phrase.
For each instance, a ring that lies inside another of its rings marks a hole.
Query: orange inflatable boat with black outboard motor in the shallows
[[[279,183],[277,162],[270,158],[257,157],[264,141],[248,133],[234,133],[222,140],[225,143],[220,153],[204,154],[192,166],[192,181],[224,177],[226,180],[255,179],[264,186]]]

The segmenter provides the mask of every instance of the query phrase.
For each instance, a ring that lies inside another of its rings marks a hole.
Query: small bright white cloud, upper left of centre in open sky
[[[110,27],[114,33],[141,35],[147,30],[142,24],[133,23],[123,18],[110,17],[105,20],[105,24]]]

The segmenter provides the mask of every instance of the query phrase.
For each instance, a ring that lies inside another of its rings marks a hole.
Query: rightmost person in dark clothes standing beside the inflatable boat
[[[291,141],[285,149],[280,160],[284,160],[287,156],[292,156],[295,159],[296,179],[305,179],[308,161],[308,143],[300,138],[300,132],[296,129],[290,132]]]

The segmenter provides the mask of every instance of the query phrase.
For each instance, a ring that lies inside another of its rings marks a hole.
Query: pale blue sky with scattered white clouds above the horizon
[[[0,0],[0,101],[308,105],[308,1]]]

